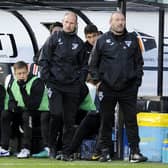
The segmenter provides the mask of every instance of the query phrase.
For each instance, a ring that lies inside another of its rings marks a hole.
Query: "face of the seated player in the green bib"
[[[15,77],[16,77],[16,80],[24,80],[26,81],[27,78],[28,78],[28,70],[26,68],[20,68],[20,69],[15,69]]]

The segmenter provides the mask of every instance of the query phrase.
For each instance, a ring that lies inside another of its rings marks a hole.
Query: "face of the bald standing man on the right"
[[[121,13],[114,13],[110,19],[111,30],[116,33],[122,33],[125,29],[125,17]]]

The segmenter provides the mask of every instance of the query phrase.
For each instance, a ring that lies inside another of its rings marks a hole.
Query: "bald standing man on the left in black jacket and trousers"
[[[66,151],[72,140],[80,90],[85,84],[88,63],[84,42],[76,34],[76,14],[67,12],[62,23],[63,31],[51,35],[44,44],[39,64],[41,78],[48,88],[50,137],[59,131],[57,129],[63,119],[62,160],[69,160]],[[49,141],[53,148],[54,142]]]

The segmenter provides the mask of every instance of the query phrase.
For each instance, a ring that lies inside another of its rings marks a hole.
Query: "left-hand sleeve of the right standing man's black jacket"
[[[94,45],[90,60],[89,60],[89,73],[91,75],[91,79],[94,82],[98,82],[99,79],[99,63],[100,63],[100,50],[99,50],[99,41],[97,40],[96,44]]]

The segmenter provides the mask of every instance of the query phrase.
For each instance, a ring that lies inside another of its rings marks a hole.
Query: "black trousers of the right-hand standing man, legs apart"
[[[130,147],[137,147],[140,141],[136,118],[136,101],[138,87],[130,85],[121,91],[114,91],[105,84],[99,87],[101,126],[98,139],[98,148],[109,149],[111,144],[112,126],[117,102],[122,109],[124,124]]]

